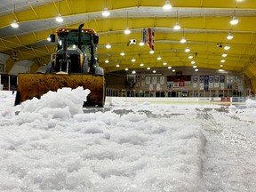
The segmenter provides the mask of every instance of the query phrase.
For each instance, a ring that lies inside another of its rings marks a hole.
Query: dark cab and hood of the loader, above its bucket
[[[94,68],[99,66],[99,36],[96,32],[93,29],[58,28],[57,36],[56,52],[52,56],[52,71],[67,70],[67,73],[93,74]],[[63,63],[67,63],[66,66],[63,67]]]

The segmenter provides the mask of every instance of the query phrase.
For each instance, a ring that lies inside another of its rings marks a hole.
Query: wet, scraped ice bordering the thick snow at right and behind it
[[[244,106],[236,106],[244,108]],[[91,108],[88,112],[112,111],[118,115],[135,113],[132,109]],[[148,118],[168,120],[182,113],[156,114],[139,110]],[[179,118],[180,119],[180,118]],[[193,124],[200,124],[207,139],[204,158],[203,180],[211,192],[256,191],[256,136],[255,124],[231,115],[228,108],[196,108]]]

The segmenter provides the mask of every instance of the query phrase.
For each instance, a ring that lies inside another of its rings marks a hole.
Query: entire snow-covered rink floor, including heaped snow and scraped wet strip
[[[0,91],[0,191],[256,191],[256,101],[82,108],[88,93]]]

